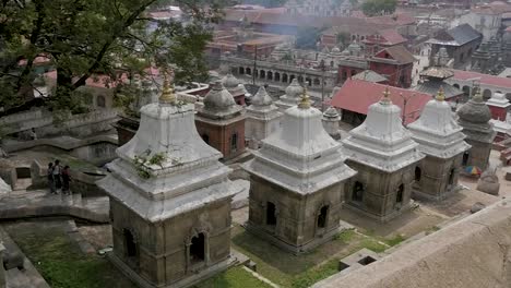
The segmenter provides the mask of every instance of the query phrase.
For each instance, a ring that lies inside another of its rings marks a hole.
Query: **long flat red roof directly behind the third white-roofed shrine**
[[[429,94],[349,79],[335,94],[331,104],[335,108],[367,115],[369,106],[381,99],[385,87],[389,87],[392,103],[397,105],[402,111],[404,98],[407,99],[406,109],[404,110],[407,115],[405,123],[417,120],[424,106],[432,99]],[[403,97],[400,95],[403,95]]]

